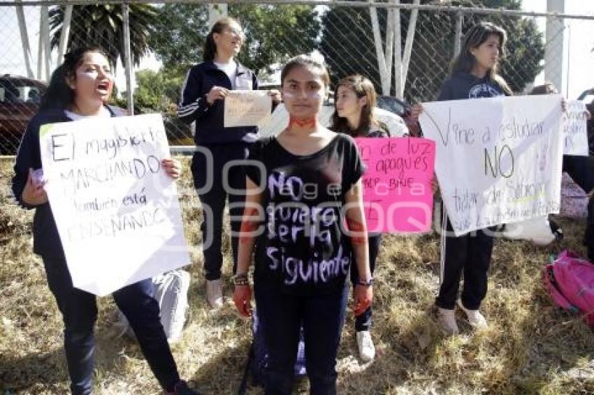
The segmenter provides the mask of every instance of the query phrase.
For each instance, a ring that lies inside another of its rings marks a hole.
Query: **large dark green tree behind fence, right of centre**
[[[518,0],[457,0],[449,3],[452,6],[514,10],[520,9],[521,6]],[[378,8],[382,32],[386,29],[386,14],[385,8]],[[405,37],[410,12],[402,10],[400,14],[401,31]],[[523,90],[542,70],[542,33],[539,33],[535,22],[527,18],[483,14],[465,14],[463,33],[481,20],[498,24],[507,31],[506,56],[501,61],[500,73],[514,91]],[[319,49],[333,70],[333,79],[351,73],[363,73],[379,88],[381,84],[369,10],[332,8],[322,17],[322,25]],[[414,103],[435,99],[442,82],[449,75],[449,65],[454,57],[455,26],[454,12],[419,11],[405,85],[405,98],[408,101]]]

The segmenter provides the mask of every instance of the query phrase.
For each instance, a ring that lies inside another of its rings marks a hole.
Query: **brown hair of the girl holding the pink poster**
[[[349,121],[346,118],[339,117],[338,111],[336,111],[336,102],[338,101],[338,88],[347,87],[356,94],[357,98],[366,97],[367,104],[361,108],[361,118],[359,124],[355,130],[352,130],[349,126]],[[375,88],[368,78],[363,75],[349,75],[348,77],[342,78],[338,81],[336,89],[334,90],[334,114],[332,114],[332,126],[331,129],[336,133],[346,133],[354,137],[358,135],[367,135],[369,133],[370,126],[380,127],[379,121],[373,114],[373,109],[377,105],[377,94]]]

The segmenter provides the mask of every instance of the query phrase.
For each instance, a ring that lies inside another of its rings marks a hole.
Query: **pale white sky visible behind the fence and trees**
[[[523,0],[523,9],[546,11],[546,0]],[[34,63],[37,58],[39,31],[39,8],[25,7],[25,18],[29,33],[29,45]],[[594,15],[594,0],[565,0],[565,13]],[[545,18],[535,18],[539,29],[544,32]],[[567,98],[577,98],[585,89],[594,88],[594,20],[565,20],[565,48],[563,53],[563,86],[561,93]],[[55,59],[55,56],[53,57]],[[569,59],[569,61],[568,61]],[[140,68],[158,69],[159,61],[154,56],[143,59]],[[55,66],[52,66],[55,67]],[[116,84],[120,91],[125,89],[125,76],[121,65],[117,67]],[[36,66],[34,65],[34,72]],[[0,7],[0,75],[10,73],[26,75],[17,16],[14,7]],[[535,84],[544,81],[541,73]]]

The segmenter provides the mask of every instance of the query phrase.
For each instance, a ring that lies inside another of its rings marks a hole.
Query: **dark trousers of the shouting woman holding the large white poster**
[[[73,394],[92,394],[97,319],[95,295],[74,288],[64,259],[43,258],[48,285],[64,320],[64,351]],[[126,315],[140,350],[164,389],[180,380],[178,368],[159,319],[159,304],[152,281],[143,280],[113,292],[117,307]]]

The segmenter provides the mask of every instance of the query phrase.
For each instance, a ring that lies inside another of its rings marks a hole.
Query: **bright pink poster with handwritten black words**
[[[356,138],[367,166],[363,203],[369,232],[429,232],[435,142],[416,137]]]

